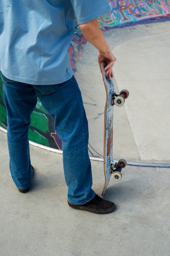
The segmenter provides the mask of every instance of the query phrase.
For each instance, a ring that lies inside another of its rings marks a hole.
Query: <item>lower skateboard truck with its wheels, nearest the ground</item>
[[[121,170],[126,166],[126,160],[120,159],[117,163],[114,161],[110,162],[110,175],[112,175],[113,180],[121,180],[122,174]]]

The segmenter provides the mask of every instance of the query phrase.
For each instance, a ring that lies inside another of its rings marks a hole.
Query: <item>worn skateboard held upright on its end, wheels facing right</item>
[[[114,106],[123,106],[125,99],[128,98],[128,90],[121,90],[119,94],[115,92],[115,84],[113,78],[108,78],[104,68],[106,63],[102,63],[102,77],[104,81],[104,86],[106,89],[106,105],[104,109],[104,175],[105,184],[102,191],[102,196],[104,195],[110,177],[113,180],[121,180],[122,174],[121,169],[126,166],[126,160],[120,159],[118,162],[113,160],[113,108]]]

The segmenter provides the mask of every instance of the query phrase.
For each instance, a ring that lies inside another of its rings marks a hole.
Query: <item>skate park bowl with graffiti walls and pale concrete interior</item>
[[[110,13],[99,18],[114,65],[116,92],[127,89],[124,106],[114,107],[113,157],[130,162],[170,164],[170,5],[166,1],[143,5],[110,0]],[[69,47],[89,124],[89,155],[103,159],[106,92],[97,63],[97,49],[86,41],[75,22]],[[159,59],[159,61],[157,61]],[[163,100],[161,100],[163,99]],[[7,130],[7,113],[0,80],[0,129]],[[29,126],[30,143],[62,153],[62,142],[51,116],[38,99]],[[163,167],[163,166],[162,166]],[[167,167],[167,165],[166,165]]]

